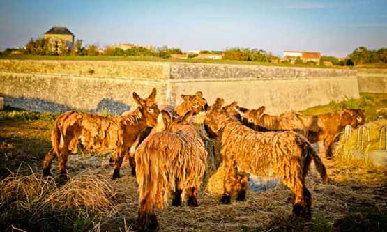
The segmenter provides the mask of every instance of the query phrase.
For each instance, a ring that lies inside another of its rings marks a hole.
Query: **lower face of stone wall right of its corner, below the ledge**
[[[175,82],[173,93],[194,94],[201,90],[208,100],[224,98],[257,109],[264,105],[268,114],[298,111],[344,98],[359,98],[356,77],[318,77],[302,79],[242,79],[208,82]],[[176,98],[177,102],[181,100]]]

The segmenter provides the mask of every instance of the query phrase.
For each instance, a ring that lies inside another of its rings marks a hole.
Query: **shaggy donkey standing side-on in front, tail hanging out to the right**
[[[220,201],[229,203],[234,190],[238,193],[237,201],[245,199],[248,189],[245,172],[261,177],[275,174],[294,196],[292,215],[310,219],[312,196],[305,187],[305,176],[311,160],[324,183],[328,181],[326,168],[312,145],[296,132],[252,130],[224,111],[223,102],[218,98],[204,121],[220,139],[222,166],[227,170],[225,192]]]

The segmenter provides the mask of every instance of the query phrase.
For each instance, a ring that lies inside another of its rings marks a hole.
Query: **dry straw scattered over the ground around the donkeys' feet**
[[[123,178],[110,180],[106,162],[106,157],[70,156],[70,173],[75,176],[62,186],[36,174],[8,176],[0,185],[8,192],[1,194],[1,227],[40,230],[54,224],[53,228],[61,231],[131,228],[138,210],[136,180],[130,176],[128,164],[123,165]],[[331,231],[352,218],[354,228],[365,223],[386,226],[382,215],[387,212],[387,169],[339,159],[326,160],[326,165],[328,185],[321,183],[314,168],[306,180],[314,196],[312,222],[289,219],[291,193],[279,185],[264,192],[249,191],[247,201],[231,205],[221,205],[216,194],[202,191],[197,208],[167,206],[156,212],[160,227],[162,231]],[[211,178],[207,189],[218,186],[222,190],[222,184],[211,182]],[[376,219],[368,215],[370,210]]]

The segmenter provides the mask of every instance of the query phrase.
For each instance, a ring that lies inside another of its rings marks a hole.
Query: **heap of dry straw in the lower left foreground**
[[[53,178],[33,173],[11,173],[0,182],[0,228],[29,231],[84,230],[98,219],[114,215],[110,180],[102,175],[80,173],[59,185]]]

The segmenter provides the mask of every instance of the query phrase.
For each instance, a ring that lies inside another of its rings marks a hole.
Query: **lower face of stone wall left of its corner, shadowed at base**
[[[158,102],[165,96],[162,82],[135,79],[111,79],[56,76],[29,73],[0,73],[0,93],[5,104],[31,111],[109,110],[121,114],[135,105],[133,91],[146,98],[157,88]]]

